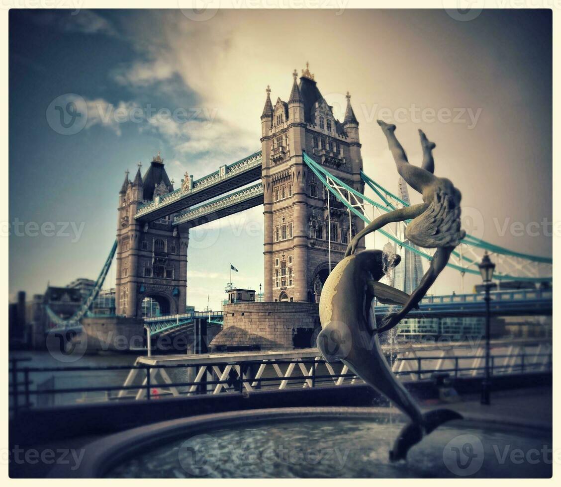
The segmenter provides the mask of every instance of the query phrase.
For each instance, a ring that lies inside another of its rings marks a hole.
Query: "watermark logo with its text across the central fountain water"
[[[183,470],[197,477],[208,476],[221,463],[229,467],[246,467],[266,463],[282,465],[318,465],[325,464],[335,470],[342,470],[351,449],[316,448],[312,446],[295,446],[292,444],[275,444],[258,449],[241,443],[235,450],[223,448],[217,438],[211,435],[197,435],[183,442],[178,450],[178,461]]]

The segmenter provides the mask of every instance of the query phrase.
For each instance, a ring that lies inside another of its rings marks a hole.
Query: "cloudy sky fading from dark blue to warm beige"
[[[11,10],[9,39],[10,296],[96,279],[125,171],[160,151],[177,187],[260,149],[266,86],[288,100],[306,62],[340,119],[350,92],[367,174],[397,192],[377,118],[397,124],[413,164],[422,128],[468,233],[551,256],[549,11]],[[53,109],[68,101],[87,113],[69,128]],[[259,289],[262,212],[191,230],[188,304],[219,307],[230,262],[234,285]],[[460,286],[447,270],[433,292]]]

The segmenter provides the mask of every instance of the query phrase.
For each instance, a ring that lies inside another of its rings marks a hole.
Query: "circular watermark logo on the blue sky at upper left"
[[[57,96],[47,107],[47,123],[55,132],[73,135],[88,122],[88,105],[75,93]]]

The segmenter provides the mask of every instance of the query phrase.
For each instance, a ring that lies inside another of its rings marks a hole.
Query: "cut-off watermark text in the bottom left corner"
[[[0,450],[0,463],[16,463],[17,465],[70,465],[70,470],[80,468],[84,460],[85,449],[74,448],[20,448],[15,445],[13,448],[3,448]]]

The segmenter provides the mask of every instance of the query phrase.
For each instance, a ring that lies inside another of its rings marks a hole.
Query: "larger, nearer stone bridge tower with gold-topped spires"
[[[344,120],[339,122],[307,63],[300,82],[296,70],[293,78],[288,103],[277,98],[273,105],[267,87],[261,114],[264,299],[319,302],[329,261],[332,268],[337,265],[351,235],[364,228],[364,223],[349,214],[333,194],[328,204],[328,192],[307,168],[302,151],[364,192],[361,144],[348,92]]]

